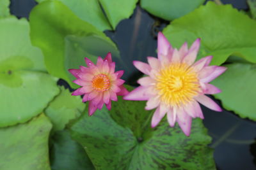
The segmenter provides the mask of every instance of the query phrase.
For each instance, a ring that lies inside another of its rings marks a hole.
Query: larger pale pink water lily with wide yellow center
[[[152,127],[156,127],[164,115],[167,115],[171,127],[178,122],[184,134],[189,136],[192,118],[204,118],[198,103],[211,110],[221,111],[220,106],[205,94],[221,92],[209,82],[220,76],[226,67],[209,66],[212,56],[195,62],[199,47],[200,39],[196,39],[190,48],[184,43],[177,50],[159,32],[158,59],[148,57],[148,64],[134,61],[134,66],[147,76],[140,78],[140,87],[132,90],[124,99],[147,101],[146,110],[156,108],[152,117]]]

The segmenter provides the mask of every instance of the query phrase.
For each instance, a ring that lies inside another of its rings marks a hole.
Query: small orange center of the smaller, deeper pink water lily
[[[97,74],[92,79],[92,87],[97,92],[105,92],[110,87],[110,81],[106,74]]]

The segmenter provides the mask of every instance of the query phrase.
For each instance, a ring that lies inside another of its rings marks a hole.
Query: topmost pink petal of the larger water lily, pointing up
[[[168,39],[162,32],[158,32],[157,36],[157,56],[158,59],[162,60],[163,55],[167,55],[169,48],[172,48]]]

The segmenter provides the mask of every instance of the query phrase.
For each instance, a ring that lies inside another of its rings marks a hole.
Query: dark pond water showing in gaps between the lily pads
[[[248,10],[246,1],[222,0],[231,3],[237,9]],[[11,12],[17,17],[28,17],[35,6],[33,0],[12,0]],[[131,18],[118,24],[115,32],[106,34],[117,44],[128,73],[125,79],[136,85],[141,73],[132,66],[132,60],[145,61],[147,56],[156,56],[156,35],[168,22],[148,15],[137,7]],[[120,68],[124,69],[124,68]],[[65,84],[64,81],[60,81]],[[214,148],[216,166],[221,170],[256,169],[256,123],[237,117],[234,113],[221,113],[208,110],[202,106],[204,124],[212,136],[211,147]]]

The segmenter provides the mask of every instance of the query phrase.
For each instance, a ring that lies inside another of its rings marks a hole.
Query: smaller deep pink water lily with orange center
[[[124,96],[128,91],[124,88],[124,80],[120,77],[124,71],[115,72],[115,62],[112,62],[111,53],[102,59],[98,57],[97,65],[88,58],[84,58],[88,67],[80,66],[80,69],[69,69],[77,79],[73,82],[81,88],[75,90],[72,95],[84,95],[83,102],[89,102],[89,116],[104,104],[111,110],[111,101],[117,101],[117,96]]]

